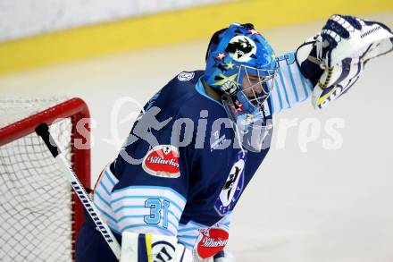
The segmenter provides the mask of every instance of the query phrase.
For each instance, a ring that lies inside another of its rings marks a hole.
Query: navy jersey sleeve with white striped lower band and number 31
[[[134,124],[119,156],[105,168],[96,185],[96,207],[119,234],[176,236],[187,202],[188,165],[192,161],[186,160],[192,156],[187,147],[178,148],[171,141],[177,119],[171,109],[149,116],[163,107],[156,104],[151,102]]]

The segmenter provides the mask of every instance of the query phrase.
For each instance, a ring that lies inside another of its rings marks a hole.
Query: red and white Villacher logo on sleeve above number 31
[[[165,178],[180,177],[179,150],[171,145],[155,146],[147,152],[142,167],[151,175]]]

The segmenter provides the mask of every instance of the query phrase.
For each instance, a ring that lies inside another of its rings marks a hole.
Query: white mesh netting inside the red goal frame
[[[0,101],[0,107],[7,107],[8,118],[37,113],[39,106],[27,103]],[[50,130],[71,159],[71,120]],[[71,215],[70,184],[35,133],[0,146],[0,261],[70,262]]]

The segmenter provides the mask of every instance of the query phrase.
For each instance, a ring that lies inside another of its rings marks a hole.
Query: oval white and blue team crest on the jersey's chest
[[[235,164],[230,169],[230,175],[222,187],[220,197],[215,202],[215,210],[224,216],[238,201],[244,186],[244,168],[246,164],[246,153],[238,153]]]

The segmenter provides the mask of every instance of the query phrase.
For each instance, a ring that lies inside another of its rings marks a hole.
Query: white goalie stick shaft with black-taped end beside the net
[[[52,156],[54,156],[56,164],[61,169],[63,174],[67,176],[67,179],[71,182],[72,189],[77,194],[86,211],[88,211],[88,216],[90,216],[96,224],[96,228],[103,235],[105,241],[112,249],[114,256],[120,260],[121,246],[115,239],[113,232],[109,229],[108,225],[105,224],[101,216],[99,216],[94,203],[91,201],[91,199],[88,198],[88,193],[82,186],[81,182],[79,182],[78,176],[73,172],[71,166],[67,162],[67,159],[63,156],[60,148],[57,147],[55,140],[52,138],[49,132],[48,125],[46,123],[39,124],[36,128],[36,133],[39,137],[41,137],[41,139],[44,140],[46,147],[49,149]]]

